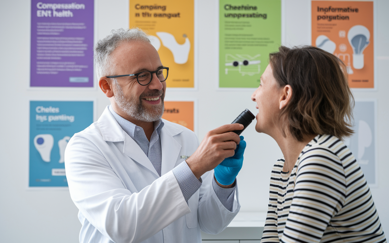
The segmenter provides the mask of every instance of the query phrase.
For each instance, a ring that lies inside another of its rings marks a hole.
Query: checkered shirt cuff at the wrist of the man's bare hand
[[[202,178],[197,179],[195,177],[186,161],[180,163],[172,171],[180,186],[182,195],[184,195],[185,201],[188,202],[189,198],[195,194],[203,183]]]

